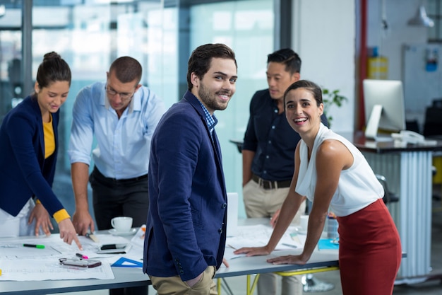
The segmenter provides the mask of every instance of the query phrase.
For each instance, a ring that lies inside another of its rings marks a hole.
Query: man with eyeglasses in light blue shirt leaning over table
[[[95,231],[88,208],[88,180],[98,229],[111,229],[116,216],[132,217],[133,226],[147,220],[150,140],[165,106],[140,84],[141,75],[136,59],[119,57],[111,64],[106,82],[86,86],[76,97],[68,154],[76,199],[73,224],[80,235]],[[94,168],[89,176],[91,160]],[[143,288],[147,294],[147,287]],[[138,288],[130,289],[131,294],[142,294]],[[111,294],[119,291],[113,289]]]

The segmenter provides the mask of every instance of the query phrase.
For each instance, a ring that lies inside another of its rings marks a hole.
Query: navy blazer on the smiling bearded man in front
[[[163,115],[151,146],[143,271],[193,279],[221,265],[227,193],[216,133],[212,141],[191,92]]]

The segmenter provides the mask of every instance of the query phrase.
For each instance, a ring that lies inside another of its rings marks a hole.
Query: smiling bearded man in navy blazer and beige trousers
[[[225,249],[227,192],[215,110],[235,92],[237,62],[222,44],[197,47],[189,91],[163,115],[152,138],[143,271],[158,294],[217,294]]]

